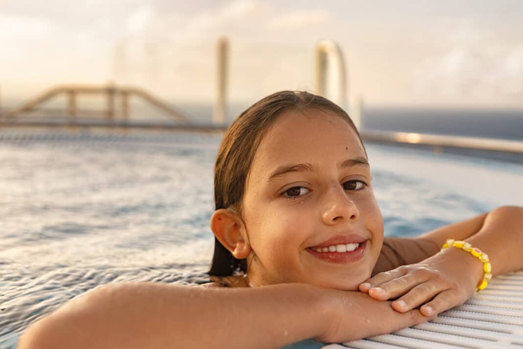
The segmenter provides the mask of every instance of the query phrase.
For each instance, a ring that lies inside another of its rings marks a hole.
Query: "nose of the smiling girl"
[[[359,218],[360,212],[355,202],[350,199],[345,190],[337,184],[332,186],[325,193],[322,211],[322,220],[327,225],[334,225],[341,222],[355,221]]]

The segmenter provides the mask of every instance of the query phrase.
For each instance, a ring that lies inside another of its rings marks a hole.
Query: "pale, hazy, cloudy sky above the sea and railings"
[[[0,0],[2,102],[57,84],[145,88],[207,103],[230,42],[231,103],[313,89],[313,49],[342,48],[349,100],[523,108],[523,2]]]

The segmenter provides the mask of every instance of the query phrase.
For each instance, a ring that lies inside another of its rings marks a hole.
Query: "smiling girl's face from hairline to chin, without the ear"
[[[254,286],[356,290],[383,242],[365,151],[347,122],[329,111],[279,116],[253,159],[242,218]]]

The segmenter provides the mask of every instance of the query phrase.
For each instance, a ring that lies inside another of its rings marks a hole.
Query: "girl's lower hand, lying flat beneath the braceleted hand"
[[[325,343],[342,343],[391,333],[431,320],[418,309],[399,313],[390,301],[376,300],[358,291],[323,289],[322,313],[326,321],[319,325],[322,334],[315,339]]]

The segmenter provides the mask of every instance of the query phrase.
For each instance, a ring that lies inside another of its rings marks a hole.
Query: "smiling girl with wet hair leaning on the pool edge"
[[[306,92],[263,98],[218,153],[213,282],[98,287],[32,325],[19,348],[346,342],[427,321],[523,268],[522,208],[384,239],[371,183],[341,108]]]

